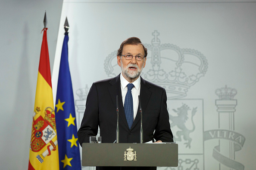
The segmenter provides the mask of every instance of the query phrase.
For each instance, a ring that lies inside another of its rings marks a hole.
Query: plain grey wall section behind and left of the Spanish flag
[[[62,0],[1,0],[1,170],[28,169],[44,12],[52,70],[61,10]]]

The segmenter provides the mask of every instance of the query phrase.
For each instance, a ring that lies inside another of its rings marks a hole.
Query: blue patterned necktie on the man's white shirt
[[[133,87],[134,85],[132,83],[129,83],[127,85],[128,91],[125,96],[125,104],[124,104],[125,118],[127,120],[129,129],[131,129],[131,125],[133,123],[133,100],[131,95],[131,89]]]

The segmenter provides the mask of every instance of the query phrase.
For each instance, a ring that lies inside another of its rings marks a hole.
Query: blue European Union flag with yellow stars
[[[75,104],[68,60],[68,33],[65,33],[59,66],[55,118],[59,146],[59,169],[81,170]]]

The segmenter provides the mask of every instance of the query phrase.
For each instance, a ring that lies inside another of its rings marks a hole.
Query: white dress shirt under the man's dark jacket
[[[129,82],[124,78],[122,73],[120,75],[120,81],[121,81],[122,100],[124,105],[125,96],[128,91],[127,85],[129,84]],[[139,106],[138,96],[140,95],[140,77],[137,80],[135,80],[132,84],[134,85],[134,88],[131,89],[131,95],[133,100],[133,120],[134,120],[137,115],[138,106]]]

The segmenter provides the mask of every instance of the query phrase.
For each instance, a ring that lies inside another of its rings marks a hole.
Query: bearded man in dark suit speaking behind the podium
[[[78,130],[80,145],[88,143],[90,136],[97,135],[98,126],[102,143],[116,140],[116,95],[119,97],[119,143],[140,143],[138,95],[143,113],[143,141],[173,142],[165,89],[140,77],[146,60],[147,49],[140,39],[131,37],[122,42],[117,53],[121,74],[93,83],[88,93],[84,118]],[[120,167],[97,167],[107,168],[120,170]],[[137,167],[139,169],[156,167]]]

